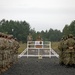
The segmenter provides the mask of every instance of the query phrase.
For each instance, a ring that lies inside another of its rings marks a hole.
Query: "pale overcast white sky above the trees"
[[[75,20],[75,0],[0,0],[2,19],[25,20],[36,31],[62,31]]]

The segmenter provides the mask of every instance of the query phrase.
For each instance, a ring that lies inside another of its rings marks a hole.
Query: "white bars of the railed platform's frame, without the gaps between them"
[[[34,44],[29,44],[29,42],[34,42]],[[59,58],[59,55],[51,48],[51,42],[50,41],[41,41],[42,44],[36,44],[36,42],[39,42],[39,41],[27,41],[27,48],[20,55],[18,55],[18,57],[19,58],[20,57],[27,57],[28,58],[28,57],[40,57],[41,56],[41,57],[49,57],[49,58],[51,58],[51,57],[56,56],[57,58]],[[44,42],[48,42],[49,44],[44,44]],[[29,48],[29,45],[33,45],[34,47]],[[36,48],[36,45],[42,45],[42,48]],[[44,45],[48,45],[49,48],[44,48],[43,47]],[[33,54],[29,55],[29,53],[28,53],[29,49],[38,50],[38,55],[33,55]],[[49,50],[49,54],[48,55],[40,55],[40,50],[41,49]],[[24,55],[26,52],[27,52],[27,54]]]

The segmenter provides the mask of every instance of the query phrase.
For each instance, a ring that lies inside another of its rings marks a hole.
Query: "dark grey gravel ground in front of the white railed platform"
[[[75,68],[59,65],[59,59],[19,58],[17,64],[1,75],[75,75]]]

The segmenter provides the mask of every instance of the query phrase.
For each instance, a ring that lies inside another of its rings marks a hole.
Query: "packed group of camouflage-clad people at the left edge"
[[[13,35],[0,32],[0,73],[8,70],[18,61],[19,43]]]

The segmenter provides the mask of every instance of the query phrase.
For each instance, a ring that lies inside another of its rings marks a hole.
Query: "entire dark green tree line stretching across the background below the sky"
[[[66,36],[69,33],[75,36],[75,21],[72,21],[70,25],[65,25],[62,32],[57,29],[53,30],[52,28],[46,31],[36,32],[34,28],[31,29],[30,24],[26,21],[2,19],[0,21],[0,32],[11,34],[21,42],[27,42],[29,33],[32,34],[33,40],[36,40],[36,37],[40,34],[45,41],[59,41],[63,35]]]

